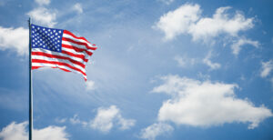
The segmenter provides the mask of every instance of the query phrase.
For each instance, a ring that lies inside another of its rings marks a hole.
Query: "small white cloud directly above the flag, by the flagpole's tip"
[[[27,15],[33,18],[35,24],[46,25],[49,27],[56,25],[55,10],[48,10],[45,7],[38,7],[27,13]]]

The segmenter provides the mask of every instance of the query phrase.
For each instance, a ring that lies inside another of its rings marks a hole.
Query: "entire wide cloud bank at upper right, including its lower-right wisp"
[[[258,47],[258,41],[239,37],[239,33],[254,26],[254,18],[246,18],[241,12],[234,15],[227,14],[231,7],[219,7],[212,17],[202,16],[200,5],[185,4],[174,11],[162,15],[154,28],[165,33],[165,40],[174,39],[177,35],[191,35],[193,41],[215,43],[219,35],[234,38],[233,54],[238,55],[241,45],[254,45]],[[230,42],[228,42],[229,44]]]

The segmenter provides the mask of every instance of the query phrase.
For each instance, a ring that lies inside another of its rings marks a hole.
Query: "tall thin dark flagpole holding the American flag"
[[[32,140],[32,129],[33,129],[33,95],[32,95],[32,72],[31,72],[31,67],[32,67],[32,63],[31,63],[31,20],[30,17],[28,19],[28,29],[29,29],[29,47],[28,47],[28,51],[29,51],[29,115],[28,115],[28,123],[29,123],[29,133],[28,133],[28,139]]]

